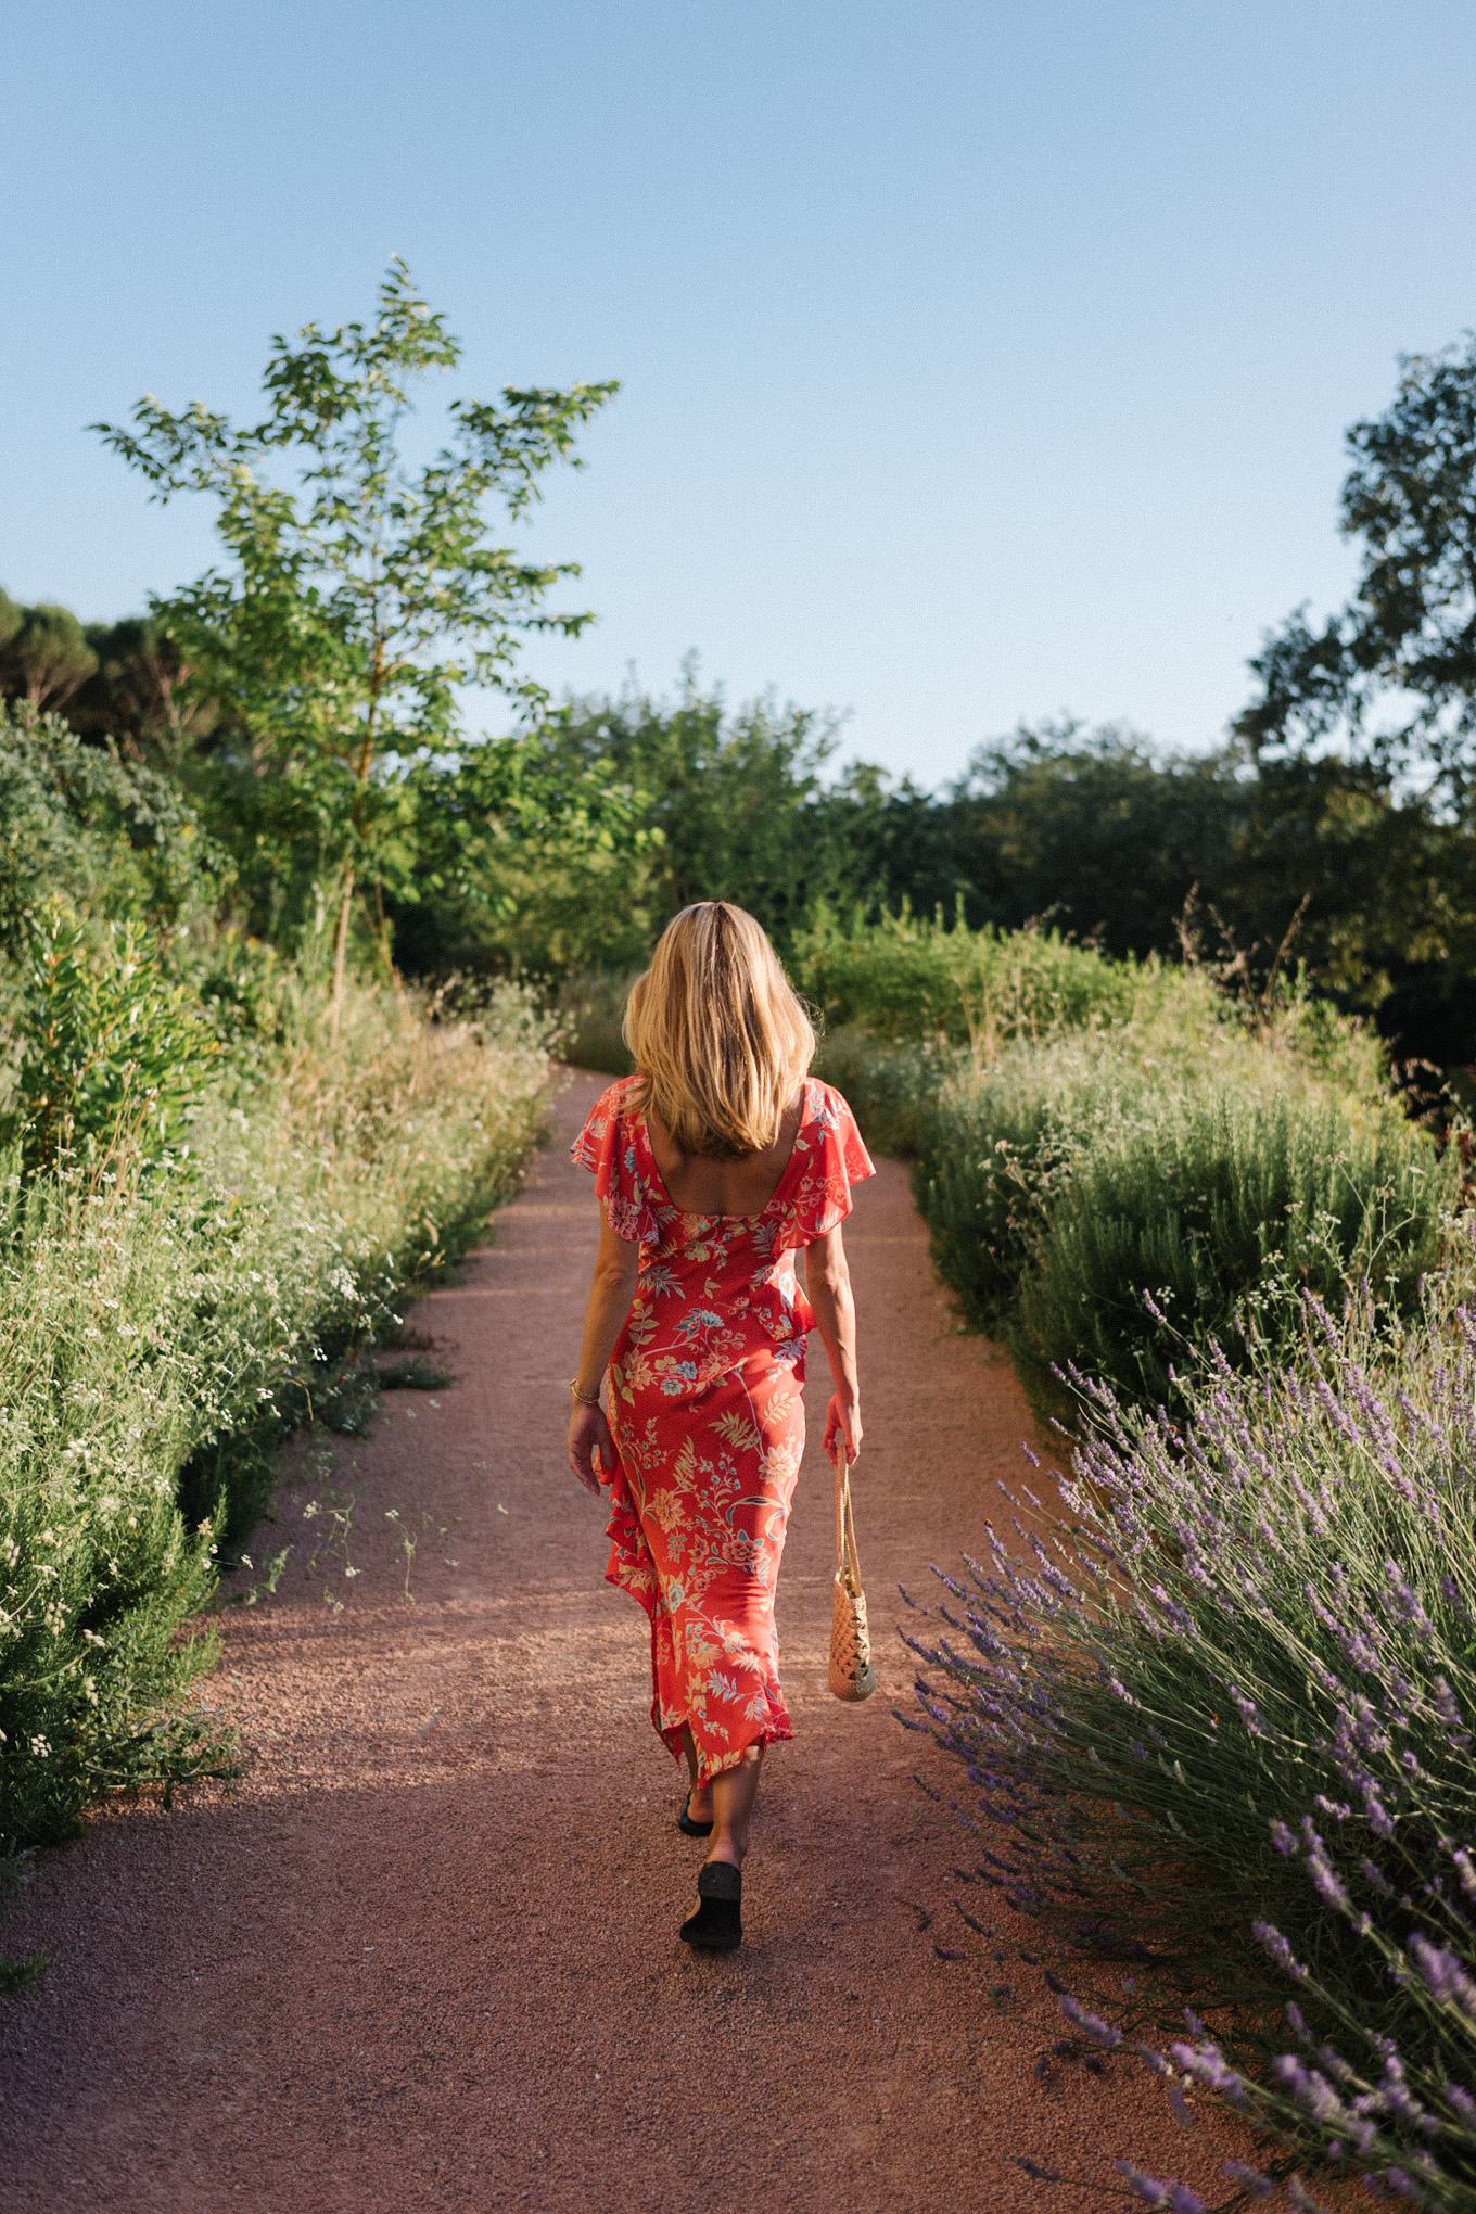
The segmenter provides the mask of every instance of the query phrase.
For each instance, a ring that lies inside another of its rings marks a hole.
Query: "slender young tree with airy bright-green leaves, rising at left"
[[[219,503],[228,565],[153,600],[190,666],[188,693],[228,706],[241,731],[235,808],[279,881],[334,903],[334,1023],[356,894],[387,941],[383,892],[414,868],[414,762],[465,751],[462,686],[538,686],[513,673],[518,633],[575,635],[589,613],[551,613],[547,593],[578,565],[527,562],[489,536],[487,507],[518,518],[542,472],[615,392],[505,390],[460,399],[449,436],[412,467],[401,438],[414,385],[451,370],[458,341],[392,263],[372,323],[272,341],[266,414],[235,427],[195,403],[146,396],[133,427],[97,425],[153,498]],[[294,485],[268,472],[294,465]],[[440,784],[432,790],[449,790]]]

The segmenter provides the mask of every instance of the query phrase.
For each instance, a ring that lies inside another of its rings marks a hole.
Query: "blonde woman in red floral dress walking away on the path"
[[[710,1838],[682,1937],[728,1951],[763,1747],[794,1736],[775,1583],[817,1324],[834,1377],[825,1452],[836,1435],[861,1452],[841,1222],[872,1162],[841,1094],[805,1076],[814,1032],[741,908],[677,914],[624,1036],[637,1074],[602,1094],[573,1147],[604,1220],[569,1463],[595,1497],[611,1488],[604,1574],[651,1616],[651,1720],[688,1767],[677,1822]]]

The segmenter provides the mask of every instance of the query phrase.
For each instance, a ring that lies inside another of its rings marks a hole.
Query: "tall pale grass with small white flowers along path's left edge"
[[[190,1149],[0,1180],[0,1855],[100,1791],[212,1758],[177,1638],[405,1291],[465,1253],[544,1127],[547,1025],[505,990],[432,1023],[279,979],[279,1041]],[[170,1767],[173,1762],[173,1767]]]

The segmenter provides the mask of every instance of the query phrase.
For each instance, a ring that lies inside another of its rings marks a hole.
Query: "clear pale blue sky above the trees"
[[[401,252],[462,390],[624,381],[531,534],[600,627],[529,666],[697,649],[923,782],[1060,708],[1213,744],[1352,576],[1343,425],[1476,323],[1472,0],[31,0],[4,75],[11,593],[201,569],[84,425],[250,407]]]

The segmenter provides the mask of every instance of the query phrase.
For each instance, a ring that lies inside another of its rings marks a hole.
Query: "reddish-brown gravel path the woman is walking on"
[[[564,1127],[595,1089],[573,1080]],[[825,1691],[817,1348],[779,1585],[797,1742],[763,1773],[744,1951],[677,1942],[701,1849],[673,1827],[644,1618],[602,1583],[602,1517],[562,1466],[593,1229],[555,1145],[465,1282],[416,1308],[460,1382],[385,1399],[336,1468],[290,1468],[261,1552],[297,1550],[272,1601],[226,1614],[212,1687],[246,1731],[241,1784],[42,1855],[4,1922],[7,1948],[51,1955],[0,2004],[7,2214],[1014,2214],[1087,2203],[1016,2152],[1213,2176],[1124,2066],[1036,2077],[1062,2024],[1016,1957],[1029,1924],[965,1895],[1009,1948],[996,1966],[952,1906],[960,1835],[909,1780],[965,1784],[890,1716],[909,1680],[892,1587],[978,1543],[1029,1417],[954,1331],[896,1165],[848,1233],[883,1689],[861,1709]]]

